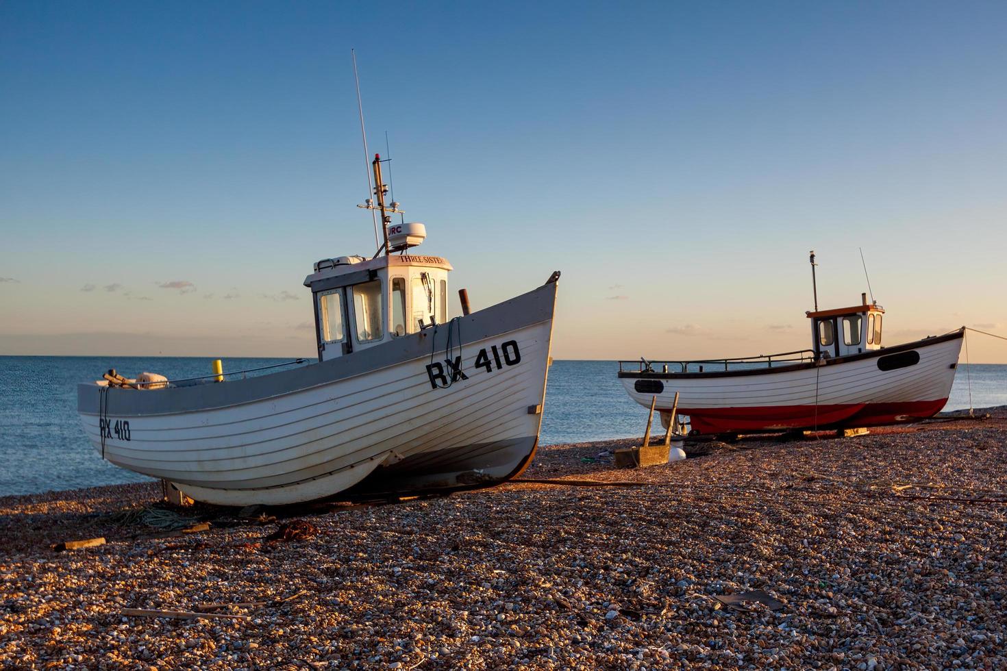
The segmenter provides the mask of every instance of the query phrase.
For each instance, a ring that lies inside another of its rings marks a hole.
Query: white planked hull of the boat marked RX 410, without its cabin
[[[448,357],[441,325],[247,380],[158,390],[82,384],[79,411],[105,459],[206,503],[488,486],[515,477],[535,453],[555,296],[550,283],[459,318],[461,350]],[[446,358],[464,373],[453,382]]]

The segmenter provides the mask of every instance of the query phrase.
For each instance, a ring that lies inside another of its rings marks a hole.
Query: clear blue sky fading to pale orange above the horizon
[[[372,151],[557,358],[1007,332],[1007,3],[0,2],[0,354],[310,355]],[[453,291],[452,291],[453,293]],[[455,299],[453,312],[458,312]],[[970,338],[971,358],[1007,343]]]

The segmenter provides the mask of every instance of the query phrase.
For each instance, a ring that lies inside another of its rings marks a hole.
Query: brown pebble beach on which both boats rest
[[[560,484],[244,517],[0,498],[0,666],[1007,667],[1007,409],[616,469],[633,443],[540,448],[523,479]]]

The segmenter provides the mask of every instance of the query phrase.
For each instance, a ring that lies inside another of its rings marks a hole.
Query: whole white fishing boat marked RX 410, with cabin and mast
[[[373,258],[319,261],[311,290],[318,360],[154,384],[115,374],[79,385],[78,409],[111,463],[222,505],[340,493],[485,487],[529,466],[538,444],[559,273],[509,301],[448,320],[440,257],[410,249],[420,223],[391,223]]]

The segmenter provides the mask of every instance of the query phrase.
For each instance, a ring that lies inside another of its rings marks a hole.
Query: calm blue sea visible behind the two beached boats
[[[225,371],[289,359],[225,359]],[[0,356],[0,496],[148,480],[102,461],[77,415],[77,384],[109,368],[172,379],[210,372],[201,357]],[[276,368],[247,373],[266,374]],[[628,438],[643,433],[646,408],[629,400],[615,361],[553,362],[540,436],[543,445]],[[945,409],[1007,405],[1007,365],[959,366]]]

